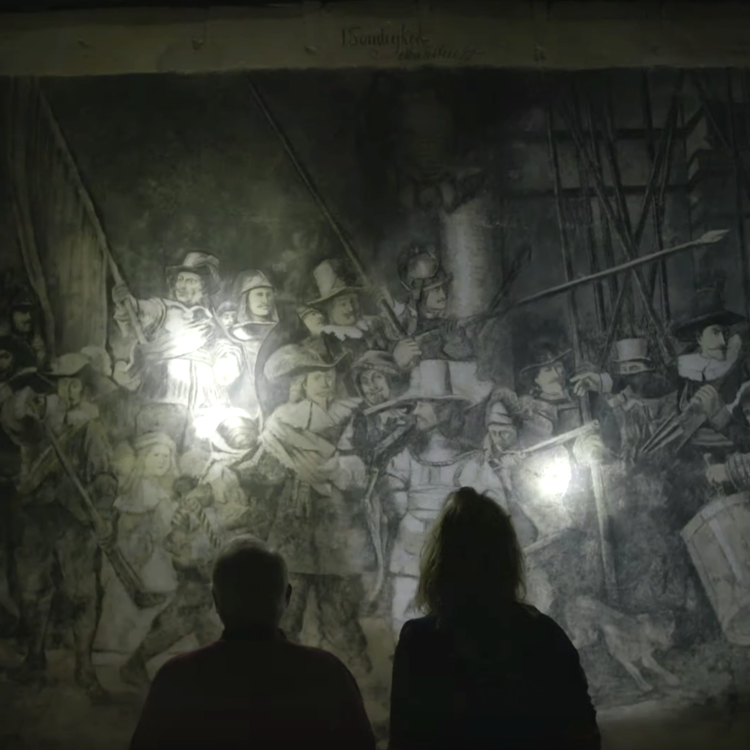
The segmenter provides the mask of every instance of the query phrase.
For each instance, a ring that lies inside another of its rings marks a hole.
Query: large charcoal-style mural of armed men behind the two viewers
[[[461,485],[602,716],[750,692],[749,82],[0,82],[3,746],[124,747],[240,532],[382,742]]]

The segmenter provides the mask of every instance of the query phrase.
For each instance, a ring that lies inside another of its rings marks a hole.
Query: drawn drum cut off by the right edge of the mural
[[[727,640],[750,646],[750,496],[717,498],[682,538]]]

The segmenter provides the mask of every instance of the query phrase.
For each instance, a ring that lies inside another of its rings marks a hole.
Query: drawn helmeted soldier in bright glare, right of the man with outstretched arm
[[[260,346],[279,322],[275,290],[262,271],[243,271],[234,283],[237,322],[229,328],[233,340],[242,346],[242,377],[232,387],[232,401],[252,417],[259,414],[255,387],[255,366]]]

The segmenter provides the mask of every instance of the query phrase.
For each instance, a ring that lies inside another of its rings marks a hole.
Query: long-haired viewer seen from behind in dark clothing
[[[415,604],[393,660],[390,750],[598,750],[578,653],[520,598],[510,517],[476,490],[452,492],[422,551]]]

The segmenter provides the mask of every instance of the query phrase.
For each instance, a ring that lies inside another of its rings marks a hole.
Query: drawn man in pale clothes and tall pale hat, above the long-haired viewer
[[[408,390],[373,409],[408,405],[416,421],[413,441],[386,467],[382,490],[391,527],[386,549],[393,576],[395,633],[409,616],[422,542],[447,494],[468,485],[505,505],[501,480],[492,471],[481,471],[472,461],[478,451],[460,438],[465,410],[491,390],[492,383],[477,379],[476,363],[422,360],[411,372]]]

